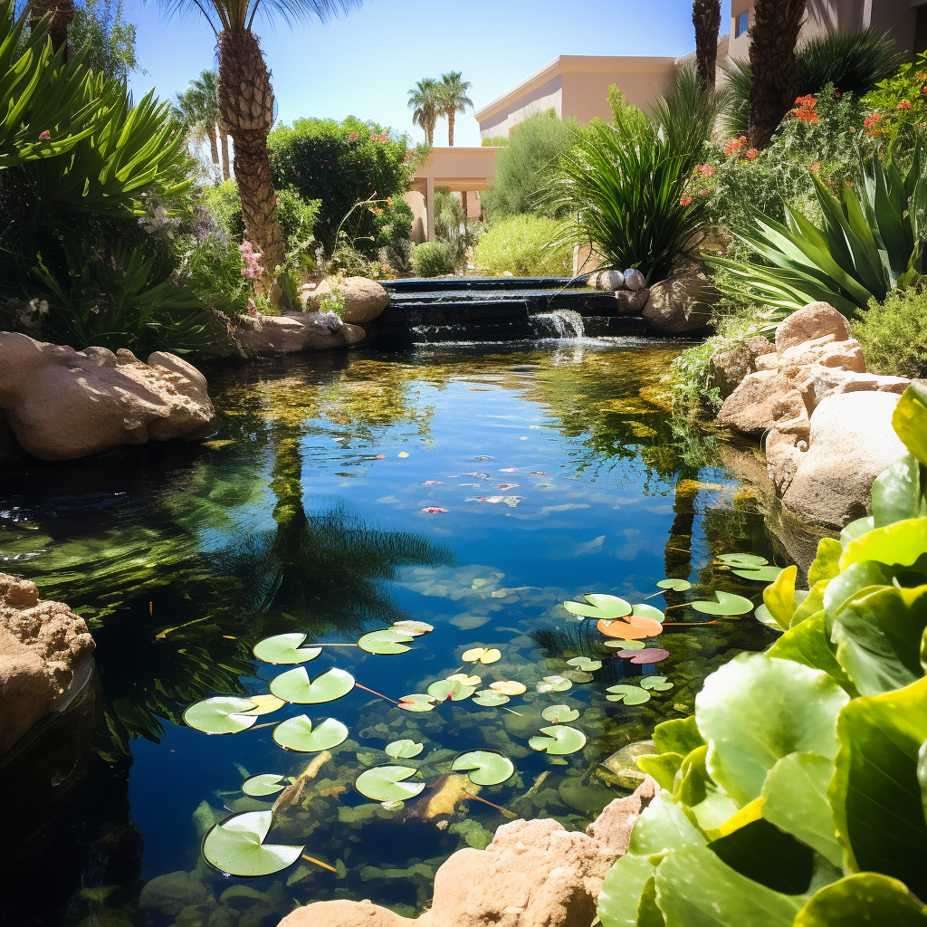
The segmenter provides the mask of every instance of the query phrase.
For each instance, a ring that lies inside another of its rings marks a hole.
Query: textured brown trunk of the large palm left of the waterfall
[[[251,32],[219,36],[219,105],[235,144],[235,178],[245,232],[263,255],[262,289],[284,262],[267,136],[273,126],[273,88],[257,37]]]

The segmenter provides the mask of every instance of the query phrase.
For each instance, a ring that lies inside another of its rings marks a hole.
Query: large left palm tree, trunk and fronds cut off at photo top
[[[202,13],[219,44],[219,110],[235,144],[235,179],[248,239],[263,255],[262,288],[267,290],[285,252],[267,136],[273,126],[273,87],[253,32],[258,12],[287,22],[348,12],[362,0],[162,0],[169,13]]]

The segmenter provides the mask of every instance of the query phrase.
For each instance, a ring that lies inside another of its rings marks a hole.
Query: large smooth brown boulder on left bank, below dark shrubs
[[[42,460],[70,460],[121,444],[198,438],[214,413],[206,379],[163,351],[76,351],[0,333],[0,409],[19,446]]]

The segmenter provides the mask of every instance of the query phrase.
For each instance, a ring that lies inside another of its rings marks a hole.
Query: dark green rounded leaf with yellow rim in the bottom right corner
[[[896,879],[859,872],[825,885],[796,915],[794,927],[927,927],[927,908]]]

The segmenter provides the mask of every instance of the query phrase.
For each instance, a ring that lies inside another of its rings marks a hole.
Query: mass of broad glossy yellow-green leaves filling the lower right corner
[[[659,756],[639,765],[666,791],[605,876],[603,927],[927,923],[921,387],[894,424],[911,453],[879,477],[872,516],[820,542],[810,594],[794,569],[767,590],[779,641],[654,731]]]

